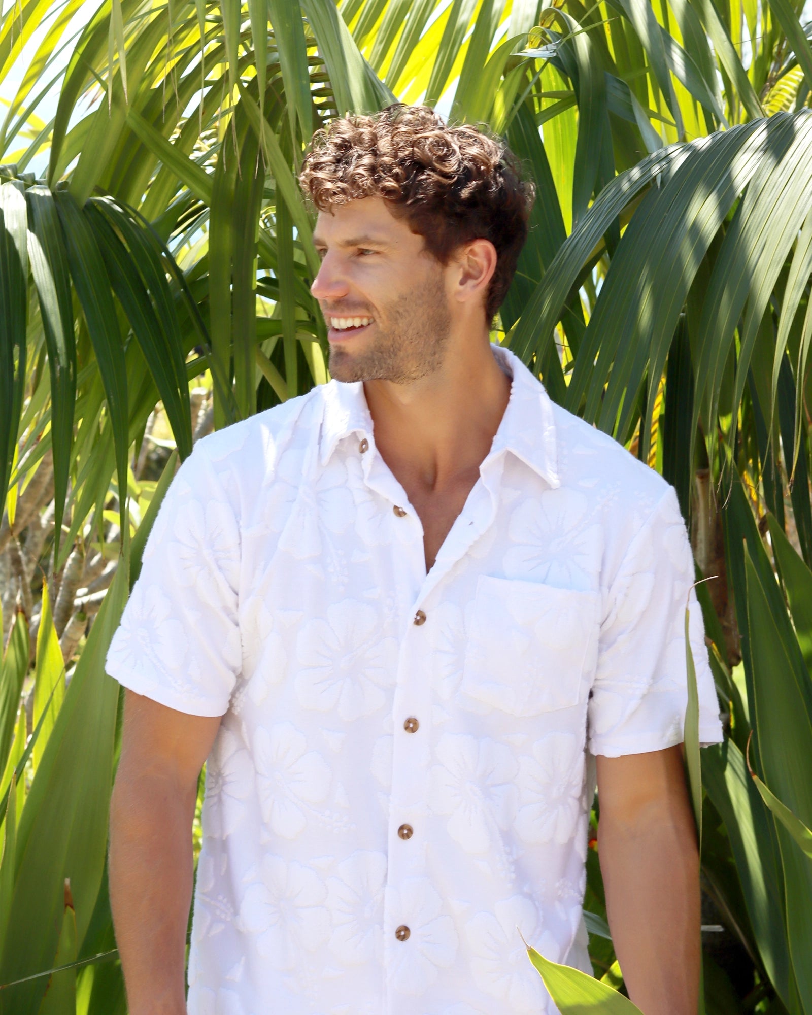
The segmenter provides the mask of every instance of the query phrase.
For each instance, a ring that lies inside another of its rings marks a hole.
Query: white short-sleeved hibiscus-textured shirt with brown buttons
[[[525,939],[591,971],[595,754],[722,739],[673,489],[511,399],[426,574],[360,384],[199,442],[108,670],[222,716],[206,769],[190,1015],[554,1012]],[[408,930],[406,930],[408,929]]]

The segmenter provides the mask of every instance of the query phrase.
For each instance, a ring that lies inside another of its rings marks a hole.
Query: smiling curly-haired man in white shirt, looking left
[[[722,734],[674,491],[489,344],[532,199],[503,146],[393,107],[301,182],[333,381],[199,443],[109,656],[130,1013],[553,1012],[522,936],[590,970],[597,761],[629,994],[694,1015],[686,603]]]

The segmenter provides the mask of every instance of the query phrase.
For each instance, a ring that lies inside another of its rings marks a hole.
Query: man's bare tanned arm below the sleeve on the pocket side
[[[598,850],[629,997],[644,1015],[696,1015],[699,857],[681,745],[597,761]]]

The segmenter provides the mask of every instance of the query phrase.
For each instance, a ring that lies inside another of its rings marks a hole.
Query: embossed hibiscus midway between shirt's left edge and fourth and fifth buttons
[[[310,805],[330,792],[330,767],[290,723],[254,735],[257,786],[263,820],[274,835],[296,838],[308,824]]]

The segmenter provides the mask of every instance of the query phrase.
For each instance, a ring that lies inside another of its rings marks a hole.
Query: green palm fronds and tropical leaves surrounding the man
[[[74,30],[88,5],[0,16],[0,88],[28,61],[0,127],[0,1009],[126,1010],[106,647],[177,458],[327,379],[295,173],[331,117],[397,97],[486,123],[523,159],[538,199],[494,340],[676,486],[713,578],[728,736],[701,788],[687,751],[705,1008],[812,1015],[797,0],[106,0]],[[594,849],[588,875],[593,964],[622,988]],[[561,1010],[603,1010],[601,993]]]

